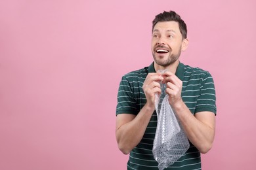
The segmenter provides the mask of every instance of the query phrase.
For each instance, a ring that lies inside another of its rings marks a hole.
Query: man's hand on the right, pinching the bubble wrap
[[[180,104],[181,99],[181,90],[182,90],[182,81],[170,71],[166,71],[162,74],[163,83],[166,84],[165,93],[169,95],[169,103],[171,106]]]

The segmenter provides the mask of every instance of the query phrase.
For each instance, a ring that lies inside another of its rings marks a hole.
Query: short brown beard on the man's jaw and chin
[[[161,61],[160,59],[157,59],[156,56],[154,55],[154,52],[152,52],[152,56],[154,58],[154,61],[158,64],[161,65],[162,67],[167,67],[169,65],[172,65],[173,63],[175,63],[175,61],[177,61],[177,59],[179,59],[179,57],[181,56],[181,48],[179,49],[178,54],[172,54],[173,50],[169,51],[169,56],[167,59],[165,59],[165,61]]]

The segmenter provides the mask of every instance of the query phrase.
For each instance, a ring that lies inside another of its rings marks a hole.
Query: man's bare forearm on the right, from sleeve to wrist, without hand
[[[191,114],[183,101],[179,103],[179,105],[173,106],[173,109],[190,142],[194,144],[200,152],[208,152],[211,149],[215,135],[215,118],[212,118],[211,121],[204,121],[206,118],[204,118],[204,120],[196,118],[196,116]],[[213,115],[210,116],[212,117]],[[210,124],[209,122],[212,123]]]

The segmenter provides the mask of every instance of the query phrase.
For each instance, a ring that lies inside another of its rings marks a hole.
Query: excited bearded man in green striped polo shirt
[[[174,11],[158,14],[152,27],[154,62],[123,76],[116,109],[119,150],[130,154],[127,169],[158,169],[152,154],[157,115],[155,94],[166,84],[169,104],[190,141],[190,148],[167,169],[201,169],[200,153],[207,153],[215,135],[215,87],[207,71],[179,61],[188,47],[186,24]],[[157,73],[158,70],[168,70]]]

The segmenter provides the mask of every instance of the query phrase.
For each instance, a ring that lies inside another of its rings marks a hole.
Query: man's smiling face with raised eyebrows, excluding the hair
[[[179,23],[158,22],[152,32],[151,50],[158,65],[167,67],[178,61],[183,50]]]

